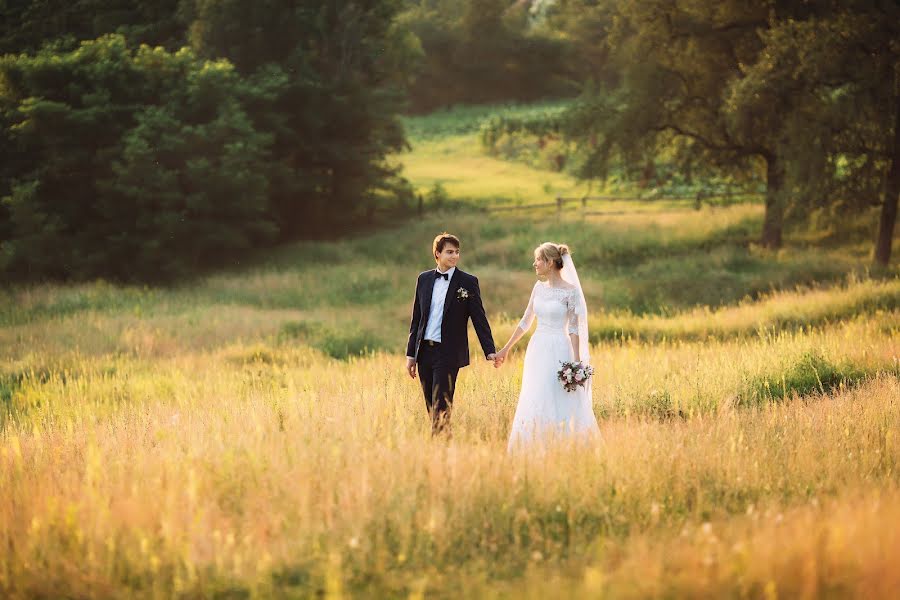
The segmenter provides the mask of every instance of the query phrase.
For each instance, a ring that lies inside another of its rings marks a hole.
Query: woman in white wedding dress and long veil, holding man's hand
[[[544,281],[534,284],[525,315],[495,358],[498,366],[502,364],[537,317],[537,330],[525,351],[510,451],[548,435],[589,436],[600,431],[591,405],[590,379],[572,392],[557,379],[563,361],[590,363],[587,305],[569,247],[544,242],[534,251],[533,266]]]

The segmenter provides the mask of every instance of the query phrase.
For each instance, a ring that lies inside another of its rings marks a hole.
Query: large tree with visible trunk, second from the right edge
[[[591,146],[582,175],[604,172],[616,156],[637,168],[664,149],[695,172],[746,179],[761,169],[760,242],[781,246],[790,133],[796,115],[817,114],[821,99],[808,87],[773,86],[755,74],[771,61],[774,26],[823,10],[797,2],[615,2],[607,44],[619,77],[589,94],[571,119],[571,131]]]

